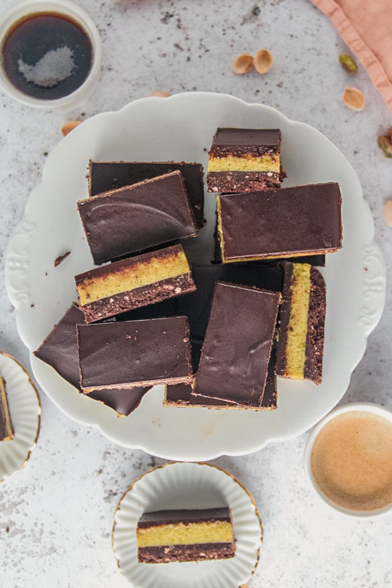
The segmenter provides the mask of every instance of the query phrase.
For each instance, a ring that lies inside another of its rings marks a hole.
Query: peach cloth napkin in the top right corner
[[[392,110],[392,0],[311,0],[329,16]]]

